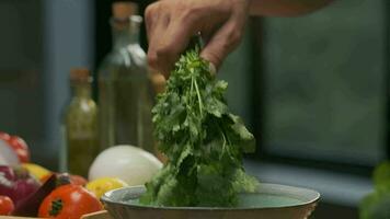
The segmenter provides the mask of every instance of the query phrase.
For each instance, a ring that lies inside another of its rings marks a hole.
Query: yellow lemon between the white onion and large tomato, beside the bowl
[[[127,183],[117,177],[101,177],[87,184],[87,189],[100,198],[104,193],[127,186]]]

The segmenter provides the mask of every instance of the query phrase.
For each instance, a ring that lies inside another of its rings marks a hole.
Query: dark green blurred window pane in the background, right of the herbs
[[[385,0],[335,1],[263,22],[263,149],[272,155],[375,165],[385,157]]]

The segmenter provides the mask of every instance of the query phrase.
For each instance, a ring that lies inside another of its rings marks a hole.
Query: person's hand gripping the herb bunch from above
[[[165,77],[202,33],[200,56],[218,68],[241,42],[250,0],[160,0],[146,10],[149,65]]]

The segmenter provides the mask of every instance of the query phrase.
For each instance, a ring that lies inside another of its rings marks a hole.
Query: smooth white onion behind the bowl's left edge
[[[144,185],[162,168],[151,153],[133,146],[116,146],[102,151],[93,161],[89,180],[118,177],[128,185]]]

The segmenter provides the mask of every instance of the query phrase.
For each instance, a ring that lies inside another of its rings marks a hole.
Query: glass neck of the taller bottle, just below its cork
[[[139,26],[135,25],[131,20],[111,21],[114,49],[119,49],[139,42]]]

